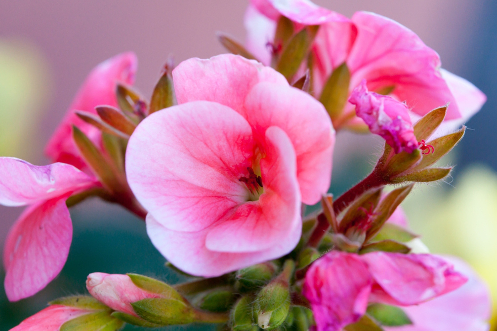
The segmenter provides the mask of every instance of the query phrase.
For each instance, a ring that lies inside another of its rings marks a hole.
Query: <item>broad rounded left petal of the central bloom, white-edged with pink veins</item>
[[[252,130],[210,101],[169,107],[138,125],[126,174],[138,201],[171,230],[199,231],[248,200],[239,178],[252,166]]]

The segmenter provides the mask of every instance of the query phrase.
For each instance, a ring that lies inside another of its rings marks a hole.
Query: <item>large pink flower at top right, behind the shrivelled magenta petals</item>
[[[275,19],[279,16],[274,11],[297,25],[306,17],[306,12],[299,13],[298,5],[293,3],[304,1],[291,2],[252,0],[247,10],[247,47],[265,64],[270,63],[270,53],[265,45],[274,38]],[[305,1],[311,6],[309,2]],[[272,8],[273,12],[269,14],[270,10],[263,10],[264,6]],[[438,54],[405,26],[363,11],[356,12],[351,22],[353,24],[343,20],[319,23],[321,26],[312,49],[314,93],[317,97],[331,72],[345,62],[351,74],[350,91],[363,79],[367,80],[369,90],[392,89],[392,96],[405,101],[415,119],[450,102],[446,125],[435,134],[438,136],[467,121],[485,103],[485,94],[473,84],[440,69]],[[350,104],[344,109],[345,113],[353,110]],[[356,118],[349,125],[363,124]]]

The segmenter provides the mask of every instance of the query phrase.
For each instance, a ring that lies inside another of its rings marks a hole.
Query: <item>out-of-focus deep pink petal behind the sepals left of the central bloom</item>
[[[85,163],[72,139],[72,125],[80,128],[97,146],[101,145],[101,132],[80,119],[75,111],[96,113],[95,107],[98,105],[117,106],[116,83],[133,84],[137,62],[134,53],[122,53],[100,63],[91,71],[69,106],[62,123],[47,144],[45,153],[53,162],[64,162],[85,168]]]

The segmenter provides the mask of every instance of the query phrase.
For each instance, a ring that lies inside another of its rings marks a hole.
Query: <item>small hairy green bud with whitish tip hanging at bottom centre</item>
[[[290,310],[290,278],[295,263],[287,260],[283,271],[264,286],[255,299],[254,314],[261,329],[273,330],[286,319]]]

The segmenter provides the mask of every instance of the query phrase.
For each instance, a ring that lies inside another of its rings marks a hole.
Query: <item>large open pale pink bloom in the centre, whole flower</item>
[[[201,276],[288,253],[301,201],[316,203],[330,185],[324,107],[240,56],[190,59],[172,75],[179,105],[147,117],[126,152],[152,242]]]

